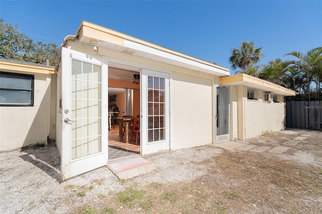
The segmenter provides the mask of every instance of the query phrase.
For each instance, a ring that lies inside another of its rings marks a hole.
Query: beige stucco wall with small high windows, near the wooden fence
[[[262,90],[255,90],[255,97],[258,100],[247,99],[246,86],[230,87],[230,140],[247,140],[284,128],[284,97],[278,95],[279,103],[266,102]]]

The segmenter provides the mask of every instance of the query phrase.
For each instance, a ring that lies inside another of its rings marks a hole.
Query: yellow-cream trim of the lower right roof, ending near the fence
[[[266,81],[264,79],[260,79],[254,76],[250,76],[244,73],[241,74],[236,74],[232,76],[224,76],[220,77],[220,84],[221,85],[234,85],[234,83],[250,83],[253,84],[254,87],[256,86],[262,86],[262,87],[267,87],[272,90],[277,90],[283,93],[288,93],[290,95],[295,95],[295,91],[285,88],[283,86],[280,86],[278,84]]]

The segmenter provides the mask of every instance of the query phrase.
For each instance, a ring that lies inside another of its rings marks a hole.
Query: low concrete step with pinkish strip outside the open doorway
[[[129,179],[157,169],[154,163],[141,157],[120,160],[111,164],[108,163],[107,167],[119,179]]]

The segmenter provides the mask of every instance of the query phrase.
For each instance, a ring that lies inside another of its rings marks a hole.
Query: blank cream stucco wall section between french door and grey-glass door
[[[212,80],[173,72],[173,149],[212,143]]]

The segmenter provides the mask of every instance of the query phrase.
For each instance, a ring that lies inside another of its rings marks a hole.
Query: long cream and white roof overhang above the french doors
[[[95,45],[99,49],[114,50],[217,76],[230,75],[227,68],[86,21],[79,26],[76,36],[78,42]]]

